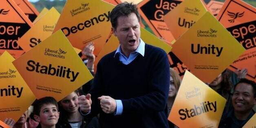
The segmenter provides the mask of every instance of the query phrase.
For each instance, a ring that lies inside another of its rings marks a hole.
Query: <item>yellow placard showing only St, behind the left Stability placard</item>
[[[21,48],[27,52],[34,46],[48,38],[60,17],[60,13],[53,7],[38,22],[18,40]]]

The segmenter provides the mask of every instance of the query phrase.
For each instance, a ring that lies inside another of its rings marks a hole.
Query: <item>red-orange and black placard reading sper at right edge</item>
[[[229,69],[247,68],[246,78],[256,82],[256,8],[242,0],[226,0],[217,19],[246,49]]]

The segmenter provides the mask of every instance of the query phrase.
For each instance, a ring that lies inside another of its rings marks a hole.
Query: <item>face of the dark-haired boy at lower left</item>
[[[34,115],[35,120],[40,122],[41,126],[52,127],[57,124],[60,113],[53,104],[44,104],[40,109],[40,114]]]

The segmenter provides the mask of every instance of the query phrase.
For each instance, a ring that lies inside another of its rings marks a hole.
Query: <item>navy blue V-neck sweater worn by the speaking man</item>
[[[119,61],[115,51],[97,65],[89,116],[100,113],[103,128],[168,128],[167,104],[170,72],[167,54],[146,44],[144,57],[139,54],[130,64]],[[108,95],[121,99],[122,115],[106,114],[97,97]]]

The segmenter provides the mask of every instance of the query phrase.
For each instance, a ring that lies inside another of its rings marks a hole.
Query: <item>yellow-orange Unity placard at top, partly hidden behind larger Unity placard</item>
[[[187,31],[205,13],[206,8],[201,0],[184,0],[173,11],[163,16],[163,20],[172,32],[175,40]]]

